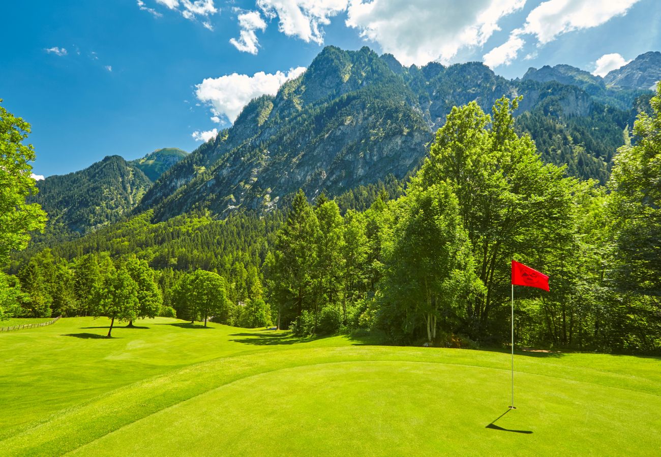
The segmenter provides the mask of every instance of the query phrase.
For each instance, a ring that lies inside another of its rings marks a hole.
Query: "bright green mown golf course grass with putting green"
[[[0,334],[0,454],[658,455],[661,360],[387,347],[159,318]]]

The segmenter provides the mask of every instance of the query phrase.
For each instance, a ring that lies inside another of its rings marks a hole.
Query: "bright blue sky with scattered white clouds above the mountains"
[[[407,65],[485,61],[508,78],[557,63],[603,73],[661,50],[658,0],[5,3],[0,98],[32,123],[44,176],[192,151],[328,44]]]

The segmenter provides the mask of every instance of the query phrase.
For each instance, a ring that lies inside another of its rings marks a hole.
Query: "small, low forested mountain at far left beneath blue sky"
[[[113,155],[85,170],[38,181],[31,201],[48,213],[47,236],[85,234],[121,219],[136,207],[151,180],[135,164]]]

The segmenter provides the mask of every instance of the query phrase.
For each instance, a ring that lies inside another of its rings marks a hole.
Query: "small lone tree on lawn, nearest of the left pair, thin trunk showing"
[[[95,291],[97,306],[94,309],[94,316],[110,318],[108,338],[110,338],[115,320],[132,321],[136,319],[139,304],[137,293],[138,285],[124,267],[106,276],[102,285]]]

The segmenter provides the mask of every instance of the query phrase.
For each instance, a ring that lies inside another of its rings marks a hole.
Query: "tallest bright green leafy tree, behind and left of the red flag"
[[[570,223],[571,181],[563,168],[543,164],[529,136],[516,134],[519,100],[500,98],[492,117],[475,102],[452,108],[414,180],[422,188],[448,182],[457,196],[475,272],[486,286],[467,303],[465,326],[476,339],[504,322],[510,260],[541,258],[561,242],[558,228]],[[492,320],[494,314],[502,319]]]

